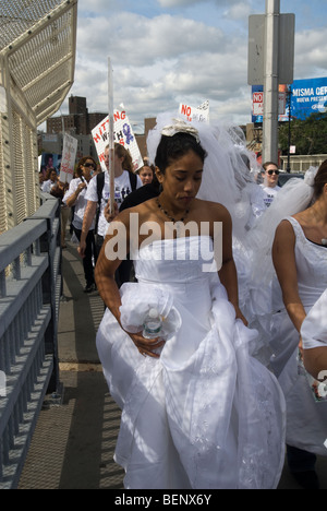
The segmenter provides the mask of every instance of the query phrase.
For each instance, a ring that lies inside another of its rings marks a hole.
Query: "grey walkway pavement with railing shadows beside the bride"
[[[104,304],[97,292],[83,293],[76,246],[66,245],[58,336],[60,394],[46,396],[19,489],[122,489],[123,471],[112,459],[120,409],[108,392],[95,346]],[[327,457],[318,459],[317,474],[327,489]],[[301,489],[287,466],[278,489]]]

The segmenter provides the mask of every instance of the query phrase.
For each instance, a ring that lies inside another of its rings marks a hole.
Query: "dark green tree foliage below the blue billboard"
[[[279,145],[282,154],[288,153],[289,123],[279,126]],[[327,114],[312,114],[305,120],[291,121],[291,143],[295,145],[296,154],[326,154],[327,153]]]

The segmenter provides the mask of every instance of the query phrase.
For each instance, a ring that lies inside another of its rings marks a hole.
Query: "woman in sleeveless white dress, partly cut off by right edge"
[[[327,288],[327,161],[314,175],[291,189],[296,197],[296,189],[306,187],[307,204],[304,211],[279,224],[272,246],[274,265],[284,305],[274,317],[272,365],[278,370],[287,400],[289,466],[296,480],[308,488],[318,487],[316,454],[327,455],[327,402],[315,401],[316,385],[307,381],[299,360],[298,346],[307,312]],[[314,201],[310,205],[312,199]],[[323,316],[316,314],[316,333],[311,334],[311,340],[306,333],[307,348],[317,347],[313,341],[318,335],[320,322],[325,321],[326,310]]]

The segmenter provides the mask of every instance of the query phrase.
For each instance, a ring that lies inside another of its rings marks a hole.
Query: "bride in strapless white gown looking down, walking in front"
[[[276,488],[284,400],[250,354],[257,333],[239,308],[231,216],[196,198],[213,171],[199,131],[157,124],[162,191],[117,216],[96,266],[107,306],[97,348],[122,409],[114,459],[125,488]],[[231,185],[221,170],[213,185],[223,197]],[[114,272],[130,249],[138,282],[118,289]],[[150,308],[162,319],[156,340],[142,334]]]

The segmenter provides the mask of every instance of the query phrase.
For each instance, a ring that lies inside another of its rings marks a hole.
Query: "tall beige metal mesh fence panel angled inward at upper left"
[[[73,84],[77,0],[0,3],[0,234],[39,207],[37,127]]]

